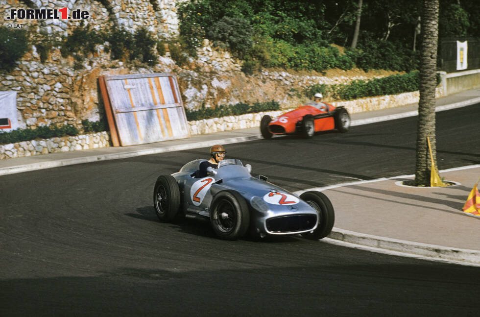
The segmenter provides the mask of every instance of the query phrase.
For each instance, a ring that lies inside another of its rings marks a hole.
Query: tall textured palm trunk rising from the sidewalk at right
[[[418,102],[417,154],[415,182],[430,186],[431,167],[427,137],[432,145],[433,160],[436,162],[435,146],[435,87],[438,45],[439,0],[423,0],[421,18],[422,50],[420,60],[420,101]]]

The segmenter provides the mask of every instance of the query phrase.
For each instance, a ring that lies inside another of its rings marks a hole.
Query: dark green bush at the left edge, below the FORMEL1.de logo
[[[0,70],[10,72],[28,50],[26,32],[0,26]]]

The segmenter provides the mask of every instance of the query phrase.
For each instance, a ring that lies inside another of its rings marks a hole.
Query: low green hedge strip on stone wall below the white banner
[[[73,125],[39,126],[36,129],[16,129],[11,132],[0,132],[0,144],[17,143],[34,139],[49,139],[55,137],[78,135],[78,129]]]

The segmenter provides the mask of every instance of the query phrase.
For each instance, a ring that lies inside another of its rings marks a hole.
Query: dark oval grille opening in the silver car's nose
[[[295,232],[313,229],[317,221],[315,215],[290,215],[266,220],[266,228],[270,232]]]

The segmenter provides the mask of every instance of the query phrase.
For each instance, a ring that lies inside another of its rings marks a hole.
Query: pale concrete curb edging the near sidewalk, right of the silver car
[[[431,258],[480,264],[480,251],[374,236],[333,228],[328,238],[368,247],[398,251]]]

